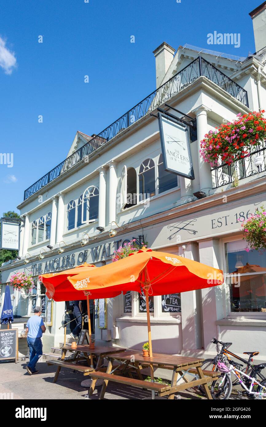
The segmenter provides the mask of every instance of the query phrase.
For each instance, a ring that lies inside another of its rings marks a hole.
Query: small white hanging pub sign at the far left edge
[[[20,221],[1,218],[0,249],[19,250]]]

